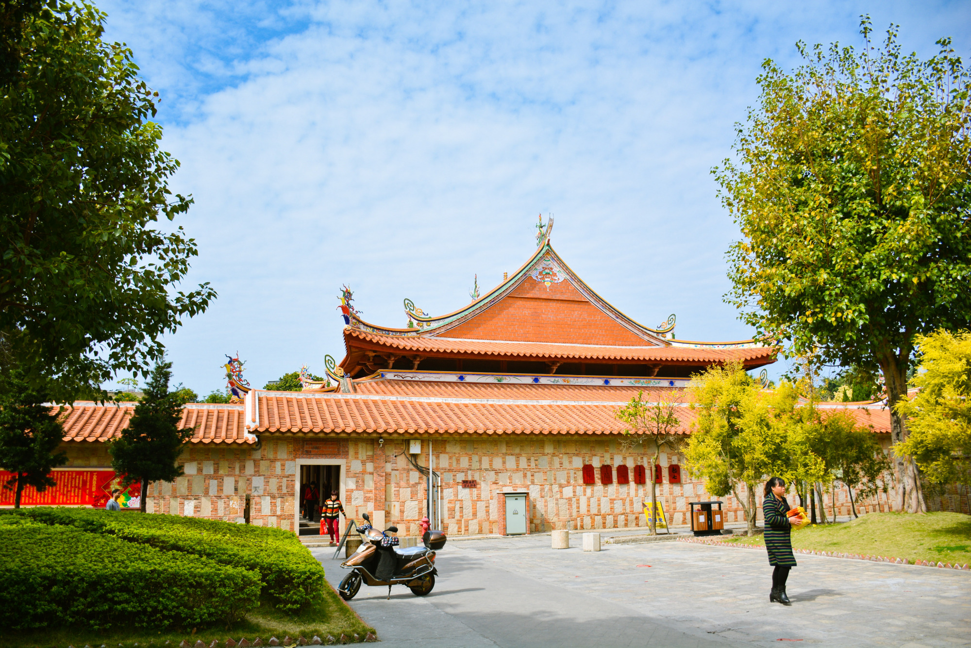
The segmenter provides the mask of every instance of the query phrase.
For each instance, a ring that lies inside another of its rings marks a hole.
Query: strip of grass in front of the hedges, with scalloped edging
[[[283,645],[284,637],[289,634],[294,639],[304,636],[310,642],[311,637],[317,634],[326,642],[327,635],[332,634],[339,638],[344,632],[353,641],[354,633],[360,635],[360,640],[364,640],[367,632],[374,632],[374,629],[365,625],[360,618],[354,614],[353,610],[345,603],[330,587],[324,588],[323,601],[313,608],[304,610],[299,616],[289,616],[277,612],[269,605],[261,605],[254,612],[247,616],[247,619],[233,626],[231,630],[208,629],[192,634],[192,629],[185,629],[185,632],[149,632],[118,630],[117,632],[91,632],[82,630],[50,630],[34,632],[3,632],[0,634],[0,647],[2,648],[47,648],[48,646],[67,646],[68,644],[84,646],[100,646],[102,644],[117,648],[122,644],[125,648],[133,646],[136,642],[140,647],[149,645],[151,641],[156,648],[162,648],[166,641],[171,641],[170,648],[178,646],[183,639],[188,639],[189,643],[196,640],[209,645],[213,639],[218,639],[222,645],[227,638],[232,637],[239,641],[246,637],[252,641],[256,637],[263,639],[263,645],[271,636],[276,636]]]

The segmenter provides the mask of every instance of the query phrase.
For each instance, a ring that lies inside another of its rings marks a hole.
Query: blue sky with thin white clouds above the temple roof
[[[219,298],[165,340],[206,394],[237,351],[255,386],[344,355],[349,284],[366,320],[439,314],[553,246],[596,291],[678,337],[752,331],[721,301],[738,236],[711,168],[766,57],[859,46],[858,16],[905,49],[954,38],[968,2],[385,3],[102,0],[162,97],[163,148]],[[781,363],[774,375],[781,373]]]

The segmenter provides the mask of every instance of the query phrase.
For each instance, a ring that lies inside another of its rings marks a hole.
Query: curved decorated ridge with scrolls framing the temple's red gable
[[[573,284],[581,294],[586,297],[586,300],[592,304],[595,308],[601,310],[608,317],[611,317],[617,321],[621,326],[631,331],[634,335],[644,339],[645,341],[654,342],[654,346],[670,346],[671,341],[666,340],[663,336],[666,333],[670,333],[675,328],[675,316],[669,315],[667,320],[663,322],[662,325],[658,325],[656,328],[650,326],[645,326],[640,322],[634,320],[633,318],[625,315],[618,308],[614,307],[607,300],[601,297],[595,290],[587,285],[586,281],[580,278],[573,269],[571,269],[566,262],[563,261],[562,257],[556,253],[556,250],[552,248],[552,244],[549,241],[545,241],[540,245],[536,252],[529,257],[519,270],[510,276],[506,281],[503,281],[498,286],[490,290],[481,299],[469,304],[464,308],[458,310],[453,310],[452,312],[440,315],[440,316],[430,316],[425,315],[420,308],[415,307],[415,303],[410,299],[405,300],[405,313],[412,319],[419,322],[419,328],[391,328],[383,326],[375,326],[368,322],[364,322],[359,317],[356,317],[353,313],[351,314],[351,328],[361,331],[366,331],[368,333],[374,333],[378,335],[396,336],[396,337],[410,337],[410,338],[428,338],[432,337],[432,333],[435,331],[448,331],[449,329],[458,326],[459,324],[468,321],[472,316],[478,314],[479,312],[485,310],[498,303],[501,299],[506,297],[510,292],[512,292],[519,284],[525,279],[527,275],[534,275],[535,272],[530,273],[536,266],[540,265],[547,255],[552,256],[552,264],[558,266],[559,270],[562,270],[566,275],[565,278],[569,278],[570,283]],[[538,276],[534,276],[537,280],[540,280]],[[562,279],[560,279],[562,280]],[[447,327],[447,328],[446,328]],[[347,329],[347,327],[346,327]],[[720,342],[714,342],[720,343]],[[721,342],[724,343],[724,342]]]

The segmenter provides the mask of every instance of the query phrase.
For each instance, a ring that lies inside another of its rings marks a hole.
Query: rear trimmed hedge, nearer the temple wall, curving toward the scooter
[[[282,610],[296,612],[322,597],[323,567],[282,529],[178,515],[119,513],[96,508],[38,506],[20,509],[45,524],[70,525],[89,533],[110,534],[157,549],[204,556],[222,565],[260,574],[263,594]]]

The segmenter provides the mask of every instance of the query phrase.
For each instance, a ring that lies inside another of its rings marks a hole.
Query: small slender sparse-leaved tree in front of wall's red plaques
[[[657,403],[644,401],[644,392],[630,399],[627,405],[619,407],[617,418],[627,426],[623,431],[622,444],[626,448],[640,446],[652,450],[651,469],[648,481],[651,483],[651,510],[657,510],[657,484],[654,479],[655,467],[660,465],[661,448],[673,446],[679,440],[678,429],[681,420],[675,414],[680,402],[680,390],[672,391],[668,398]],[[651,535],[657,535],[656,515],[651,516]]]

